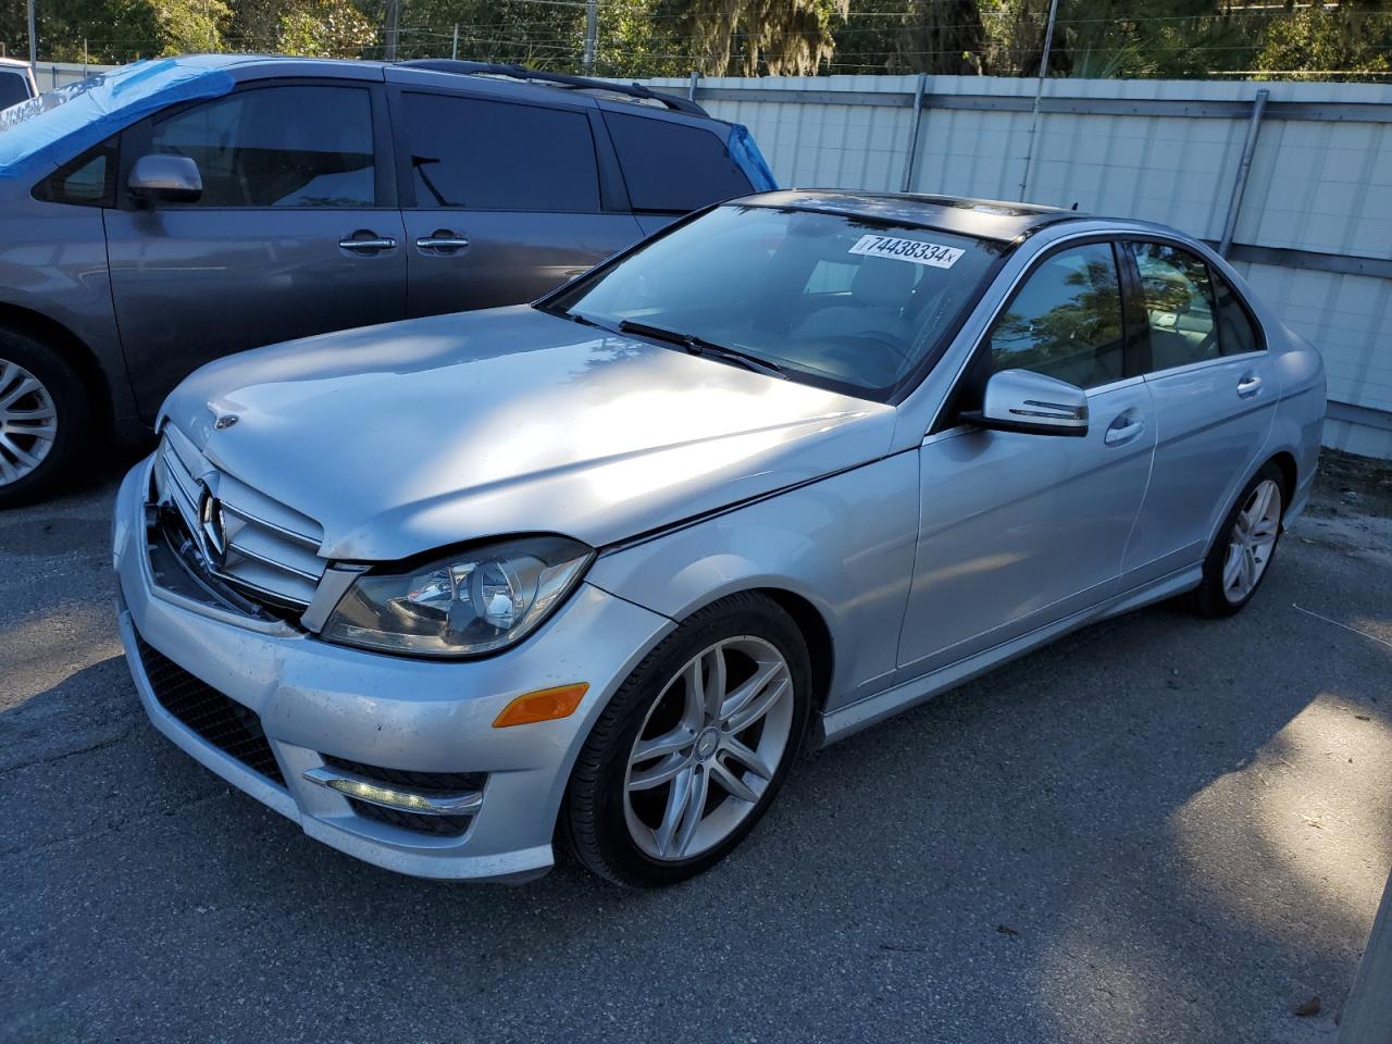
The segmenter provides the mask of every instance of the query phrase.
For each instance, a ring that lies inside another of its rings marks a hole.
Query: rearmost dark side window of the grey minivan
[[[725,142],[706,127],[604,113],[635,210],[682,213],[754,191]]]

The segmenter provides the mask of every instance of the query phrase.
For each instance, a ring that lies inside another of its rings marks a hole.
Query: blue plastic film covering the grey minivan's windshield
[[[232,86],[227,70],[159,58],[21,102],[0,111],[0,178],[56,167],[159,109],[219,97]]]

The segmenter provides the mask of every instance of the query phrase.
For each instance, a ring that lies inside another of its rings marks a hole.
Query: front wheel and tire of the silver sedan
[[[615,884],[657,888],[707,870],[777,796],[810,692],[807,647],[775,601],[742,593],[700,610],[614,693],[576,760],[558,832]],[[721,710],[702,724],[699,707]],[[660,753],[639,756],[640,739]]]

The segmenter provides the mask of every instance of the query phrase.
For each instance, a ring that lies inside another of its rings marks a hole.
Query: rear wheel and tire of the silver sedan
[[[1256,519],[1256,532],[1253,532],[1253,511],[1260,507],[1256,503],[1258,491],[1268,494],[1275,503],[1263,501],[1263,514]],[[1200,615],[1231,617],[1240,612],[1251,601],[1261,582],[1271,572],[1271,560],[1275,558],[1276,544],[1281,541],[1283,532],[1281,523],[1289,498],[1290,491],[1286,489],[1285,475],[1270,461],[1243,487],[1232,511],[1218,528],[1218,536],[1214,537],[1212,547],[1208,548],[1208,555],[1204,558],[1204,579],[1192,594],[1192,606]],[[1247,551],[1243,551],[1243,547]],[[1239,558],[1247,555],[1249,564],[1239,562],[1236,567],[1240,574],[1236,579],[1244,582],[1233,579],[1233,554]],[[1249,578],[1246,571],[1253,568],[1251,562],[1256,564],[1256,575]]]

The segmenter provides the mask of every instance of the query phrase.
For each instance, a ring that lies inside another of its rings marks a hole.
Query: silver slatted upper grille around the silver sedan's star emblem
[[[207,541],[205,498],[217,508],[221,564],[206,562],[220,580],[248,597],[303,610],[324,575],[323,529],[312,518],[219,472],[177,427],[166,426],[155,472],[160,503],[173,505],[191,536]]]

